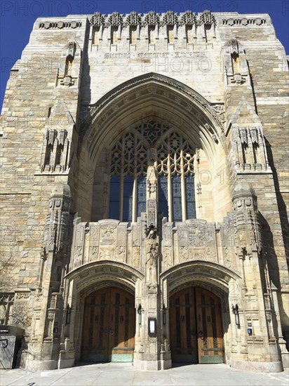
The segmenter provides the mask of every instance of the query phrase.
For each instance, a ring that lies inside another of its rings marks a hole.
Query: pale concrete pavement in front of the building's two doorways
[[[206,386],[288,386],[288,372],[249,373],[226,364],[177,366],[166,371],[135,371],[132,364],[82,364],[62,370],[29,371],[15,368],[0,371],[0,385],[86,386],[86,385],[206,385]]]

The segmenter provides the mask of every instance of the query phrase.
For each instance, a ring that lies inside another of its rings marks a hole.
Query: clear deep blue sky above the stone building
[[[289,0],[184,0],[184,1],[104,1],[104,0],[2,0],[0,3],[0,106],[2,106],[6,83],[10,69],[20,58],[22,50],[29,41],[36,18],[59,17],[69,14],[92,14],[95,12],[112,13],[119,11],[129,13],[137,11],[202,12],[210,9],[213,12],[238,12],[238,13],[269,13],[271,16],[278,39],[289,52]]]

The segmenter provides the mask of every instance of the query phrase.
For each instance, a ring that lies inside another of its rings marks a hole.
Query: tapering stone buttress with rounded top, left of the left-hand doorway
[[[69,245],[70,188],[58,184],[49,200],[39,267],[32,336],[26,368],[30,371],[58,367],[63,315],[63,276]],[[30,354],[31,353],[31,354]]]

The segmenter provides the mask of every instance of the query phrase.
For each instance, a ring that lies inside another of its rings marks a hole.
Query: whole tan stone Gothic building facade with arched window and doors
[[[288,62],[267,14],[39,18],[1,116],[29,369],[288,367]]]

